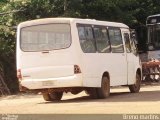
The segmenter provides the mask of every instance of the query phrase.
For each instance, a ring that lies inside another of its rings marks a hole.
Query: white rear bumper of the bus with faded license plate
[[[82,85],[82,75],[80,74],[59,78],[25,79],[20,82],[20,86],[28,90],[61,87],[82,87]]]

